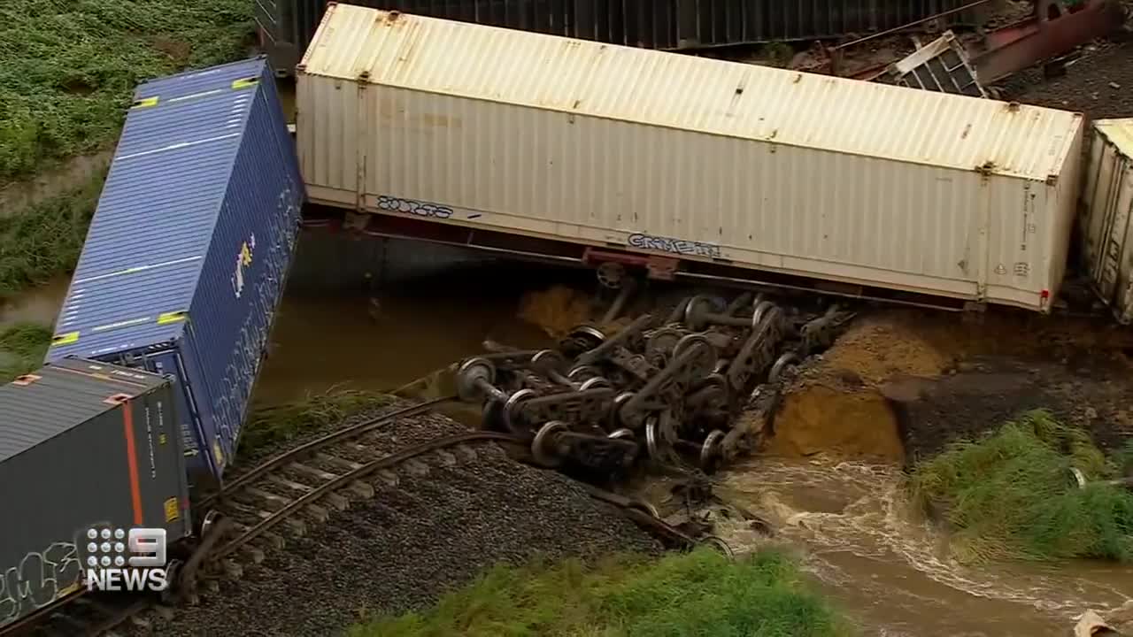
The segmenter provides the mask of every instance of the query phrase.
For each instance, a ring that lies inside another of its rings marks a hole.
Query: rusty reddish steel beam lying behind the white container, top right
[[[1057,8],[1053,17],[1051,7]],[[1063,11],[1062,2],[1039,0],[1036,16],[988,36],[988,51],[972,58],[985,86],[1043,60],[1057,58],[1087,42],[1109,35],[1125,22],[1117,0],[1091,0],[1076,11]]]

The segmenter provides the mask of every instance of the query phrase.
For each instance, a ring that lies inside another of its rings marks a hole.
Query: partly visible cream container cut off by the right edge
[[[1133,118],[1093,122],[1082,203],[1094,289],[1118,322],[1133,323]]]

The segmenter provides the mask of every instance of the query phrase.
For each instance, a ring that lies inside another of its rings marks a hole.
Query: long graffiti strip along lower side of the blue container
[[[213,422],[216,424],[216,435],[229,449],[236,445],[244,422],[248,398],[252,396],[252,384],[259,372],[259,364],[267,349],[267,334],[272,316],[283,294],[291,255],[299,231],[299,195],[293,185],[288,185],[279,195],[278,214],[272,215],[273,226],[269,229],[267,246],[256,260],[261,272],[253,272],[250,260],[247,264],[247,283],[249,289],[248,304],[244,323],[237,341],[233,343],[224,376],[219,382],[218,391],[212,401]],[[216,466],[225,462],[219,441],[212,441],[213,457]]]

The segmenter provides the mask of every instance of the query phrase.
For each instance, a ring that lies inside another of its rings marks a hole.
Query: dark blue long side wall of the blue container
[[[305,198],[274,83],[264,65],[258,90],[247,94],[246,133],[189,312],[194,331],[185,356],[196,356],[193,365],[204,380],[198,388],[207,388],[210,404],[202,411],[214,421],[221,468],[236,452]],[[198,400],[203,393],[198,389]]]

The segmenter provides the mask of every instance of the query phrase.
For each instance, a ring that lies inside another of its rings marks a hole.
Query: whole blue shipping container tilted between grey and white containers
[[[263,57],[134,97],[46,362],[173,375],[187,467],[219,481],[295,254],[299,162]]]

